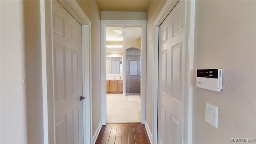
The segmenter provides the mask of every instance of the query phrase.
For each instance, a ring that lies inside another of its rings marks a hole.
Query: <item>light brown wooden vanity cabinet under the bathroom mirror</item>
[[[106,88],[108,94],[122,94],[123,80],[107,80]]]

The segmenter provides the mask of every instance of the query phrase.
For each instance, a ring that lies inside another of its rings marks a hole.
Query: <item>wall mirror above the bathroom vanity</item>
[[[122,57],[106,57],[106,74],[122,74]]]

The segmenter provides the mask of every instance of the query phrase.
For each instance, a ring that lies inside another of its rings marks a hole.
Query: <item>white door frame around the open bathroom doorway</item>
[[[101,20],[100,23],[101,23],[101,50],[100,50],[101,63],[100,65],[101,65],[101,122],[102,122],[102,125],[106,125],[106,113],[107,113],[106,111],[106,26],[142,26],[141,123],[145,124],[147,21],[146,20]],[[124,86],[125,86],[125,83],[124,83]]]

